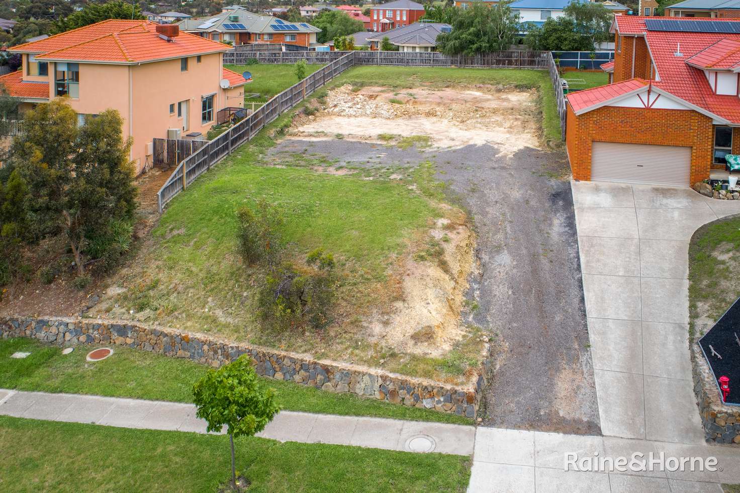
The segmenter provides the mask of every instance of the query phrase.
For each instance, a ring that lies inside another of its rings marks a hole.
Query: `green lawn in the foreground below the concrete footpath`
[[[464,492],[469,458],[235,439],[250,492]],[[215,492],[229,439],[0,416],[6,492]]]

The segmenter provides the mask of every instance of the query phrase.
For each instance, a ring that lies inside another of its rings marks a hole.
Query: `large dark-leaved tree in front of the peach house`
[[[64,234],[78,276],[85,273],[86,238],[130,219],[136,208],[131,143],[122,126],[112,109],[78,126],[75,110],[55,99],[26,112],[24,133],[13,139],[12,164],[33,197],[33,233]]]

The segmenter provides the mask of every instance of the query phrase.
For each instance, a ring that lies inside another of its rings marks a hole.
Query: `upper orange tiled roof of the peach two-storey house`
[[[39,60],[139,63],[229,50],[225,44],[181,32],[175,41],[159,37],[151,21],[110,19],[10,48],[39,53]]]

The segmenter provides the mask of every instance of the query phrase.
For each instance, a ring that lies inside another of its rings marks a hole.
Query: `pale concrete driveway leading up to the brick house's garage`
[[[688,349],[688,245],[740,203],[689,188],[572,183],[604,435],[702,443]]]

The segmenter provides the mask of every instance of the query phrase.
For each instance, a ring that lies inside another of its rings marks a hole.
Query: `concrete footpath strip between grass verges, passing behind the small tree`
[[[120,426],[206,432],[206,422],[195,418],[195,406],[97,395],[49,394],[0,389],[0,415]],[[258,437],[303,443],[335,443],[375,449],[472,455],[475,428],[457,424],[400,421],[282,411]],[[414,440],[426,438],[430,441]]]

